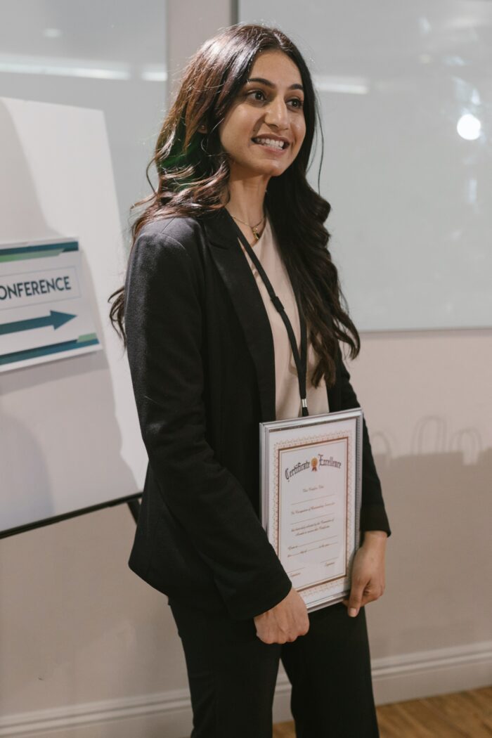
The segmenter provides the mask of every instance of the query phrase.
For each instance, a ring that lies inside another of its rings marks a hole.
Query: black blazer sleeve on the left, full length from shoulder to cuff
[[[136,239],[125,281],[128,362],[164,502],[240,620],[274,607],[292,584],[246,491],[206,440],[198,264],[165,232]]]

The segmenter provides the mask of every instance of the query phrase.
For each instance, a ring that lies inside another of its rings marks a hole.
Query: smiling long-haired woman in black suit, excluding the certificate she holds
[[[383,593],[390,531],[365,424],[348,601],[308,615],[259,517],[258,424],[301,407],[287,331],[244,238],[298,345],[299,300],[311,415],[358,407],[339,342],[352,357],[360,342],[326,247],[330,206],[306,180],[316,111],[280,30],[239,24],[207,41],[164,120],[159,184],[111,308],[149,456],[129,565],[168,596],[194,738],[271,736],[280,658],[298,738],[378,735],[364,605]]]

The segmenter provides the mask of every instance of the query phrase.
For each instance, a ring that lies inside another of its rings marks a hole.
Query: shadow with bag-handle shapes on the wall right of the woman
[[[474,429],[448,440],[436,417],[417,425],[410,455],[372,438],[393,534],[384,600],[395,627],[376,635],[378,654],[488,640],[492,449]]]

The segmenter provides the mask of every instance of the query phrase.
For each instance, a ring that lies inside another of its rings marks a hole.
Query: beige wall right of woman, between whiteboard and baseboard
[[[368,336],[353,364],[393,531],[375,656],[492,637],[491,337]]]

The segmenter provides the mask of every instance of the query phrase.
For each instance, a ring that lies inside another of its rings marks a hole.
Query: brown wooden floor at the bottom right
[[[490,738],[492,687],[377,708],[381,738]],[[273,738],[296,738],[294,723],[274,725]]]

